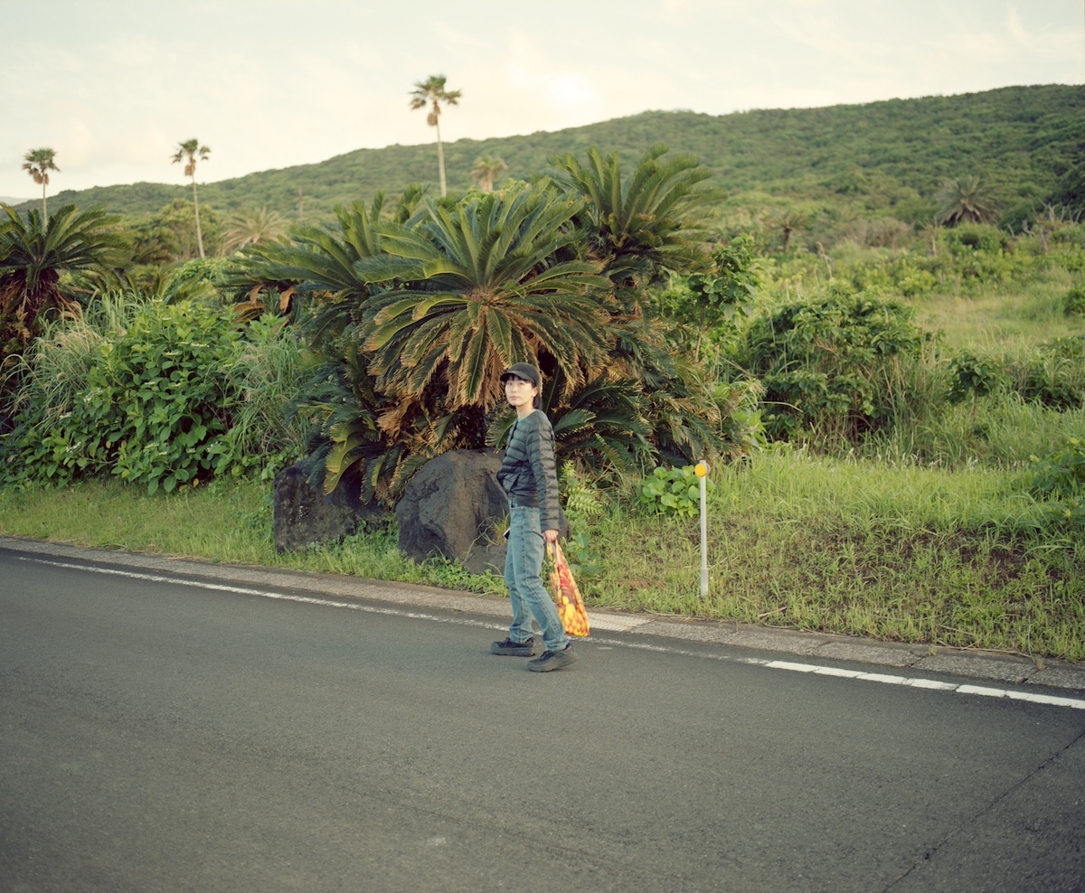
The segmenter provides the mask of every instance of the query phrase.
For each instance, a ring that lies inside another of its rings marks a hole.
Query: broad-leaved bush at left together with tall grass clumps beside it
[[[296,447],[260,411],[275,395],[259,393],[268,382],[252,354],[261,355],[256,367],[267,365],[282,342],[272,327],[242,332],[221,310],[188,302],[108,309],[104,326],[56,327],[36,345],[0,480],[55,485],[107,474],[169,493]]]

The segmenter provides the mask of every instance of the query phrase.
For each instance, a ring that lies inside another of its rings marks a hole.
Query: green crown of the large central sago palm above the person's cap
[[[381,386],[446,410],[489,409],[512,362],[546,361],[572,385],[600,368],[609,343],[601,301],[610,282],[592,260],[554,257],[578,239],[580,204],[544,188],[430,206],[414,227],[381,225],[384,254],[355,265],[376,293],[366,349]]]

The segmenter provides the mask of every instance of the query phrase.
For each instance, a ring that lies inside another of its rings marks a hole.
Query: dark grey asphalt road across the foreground
[[[0,549],[2,891],[1085,889],[1083,710],[62,564]]]

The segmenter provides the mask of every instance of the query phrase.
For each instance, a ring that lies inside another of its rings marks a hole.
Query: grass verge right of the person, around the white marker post
[[[1007,475],[770,452],[713,474],[695,525],[612,513],[596,603],[909,642],[1085,658],[1082,556]]]

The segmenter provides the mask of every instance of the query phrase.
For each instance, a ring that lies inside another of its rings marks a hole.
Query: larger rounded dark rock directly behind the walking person
[[[497,527],[509,503],[497,483],[500,468],[493,449],[454,449],[422,465],[396,506],[399,550],[416,561],[459,559],[473,574],[505,573]]]

